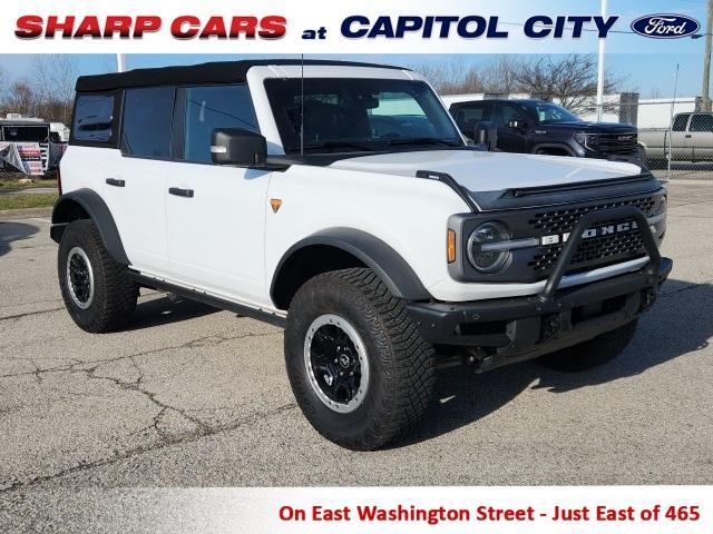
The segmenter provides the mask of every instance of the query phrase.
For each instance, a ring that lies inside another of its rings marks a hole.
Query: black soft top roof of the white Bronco
[[[174,83],[240,83],[245,81],[251,67],[266,65],[302,65],[300,59],[253,59],[242,61],[215,61],[211,63],[182,67],[162,67],[155,69],[135,69],[109,75],[80,76],[77,78],[77,91],[108,91],[125,87],[168,86]],[[330,61],[305,59],[305,66],[346,66],[377,67],[382,69],[402,69],[387,65],[359,63],[351,61]]]

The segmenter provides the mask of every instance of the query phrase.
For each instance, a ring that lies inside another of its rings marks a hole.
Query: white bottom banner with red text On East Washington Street
[[[81,498],[81,493],[78,494]],[[215,534],[710,534],[710,487],[245,487],[107,492],[115,527]],[[144,532],[144,531],[141,531]]]

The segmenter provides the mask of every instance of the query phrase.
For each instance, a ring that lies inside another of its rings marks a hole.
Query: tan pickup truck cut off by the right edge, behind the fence
[[[670,149],[672,161],[713,161],[713,113],[678,113],[671,129],[641,129],[638,144],[651,167],[665,164]]]

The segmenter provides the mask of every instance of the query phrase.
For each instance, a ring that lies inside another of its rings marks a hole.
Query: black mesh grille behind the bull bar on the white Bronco
[[[600,209],[616,208],[619,206],[636,206],[646,217],[651,217],[657,205],[656,197],[643,197],[619,201],[611,201],[598,205],[560,208],[543,211],[535,215],[529,224],[538,236],[549,236],[570,233],[585,214]],[[596,225],[596,228],[611,224],[627,222],[631,219],[611,220]],[[539,247],[528,267],[533,269],[536,279],[549,276],[559,258],[559,254],[566,243]],[[575,274],[592,268],[627,261],[645,256],[644,243],[641,231],[636,228],[616,234],[582,239],[579,246],[567,269],[567,274]]]

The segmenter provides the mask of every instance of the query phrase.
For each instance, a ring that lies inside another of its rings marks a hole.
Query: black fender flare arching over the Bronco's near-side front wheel
[[[330,246],[351,254],[373,269],[395,297],[407,300],[430,300],[433,298],[408,261],[387,243],[362,230],[329,228],[295,243],[282,256],[270,285],[270,297],[273,303],[275,301],[275,286],[284,264],[297,250],[314,245]]]

